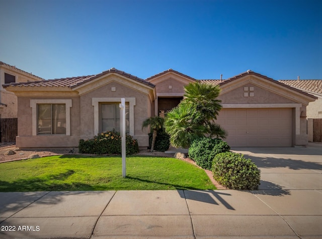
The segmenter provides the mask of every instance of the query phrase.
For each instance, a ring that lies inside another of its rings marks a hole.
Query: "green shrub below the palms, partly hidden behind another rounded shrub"
[[[211,170],[212,160],[216,154],[229,150],[229,145],[221,139],[199,138],[192,142],[188,154],[198,166]]]

